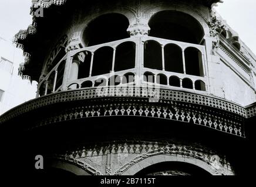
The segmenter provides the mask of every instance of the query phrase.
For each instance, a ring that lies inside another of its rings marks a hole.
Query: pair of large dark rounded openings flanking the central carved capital
[[[121,13],[100,15],[87,24],[83,31],[83,43],[87,47],[128,38],[129,25],[129,19]],[[149,36],[194,44],[203,41],[203,26],[188,13],[160,11],[151,16],[148,25]]]

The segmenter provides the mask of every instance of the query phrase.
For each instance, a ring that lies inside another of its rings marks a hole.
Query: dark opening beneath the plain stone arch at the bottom
[[[135,175],[198,175],[211,176],[211,174],[203,168],[186,162],[160,162],[150,165],[137,172]]]

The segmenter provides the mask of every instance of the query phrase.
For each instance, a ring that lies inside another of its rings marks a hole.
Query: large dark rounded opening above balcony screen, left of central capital
[[[92,20],[83,33],[85,46],[110,41],[121,40],[130,37],[127,29],[130,23],[126,16],[120,13],[107,13]]]

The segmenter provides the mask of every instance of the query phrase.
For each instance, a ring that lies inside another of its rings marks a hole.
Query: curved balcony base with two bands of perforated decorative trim
[[[195,124],[245,137],[246,113],[240,106],[206,95],[156,88],[104,87],[53,93],[10,110],[0,117],[0,123],[26,130],[116,116]]]

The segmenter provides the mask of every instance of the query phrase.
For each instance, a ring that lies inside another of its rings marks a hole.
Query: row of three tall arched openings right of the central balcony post
[[[144,43],[144,67],[201,77],[204,75],[200,50],[187,47],[183,51],[176,44],[167,44],[162,47],[154,40]]]

